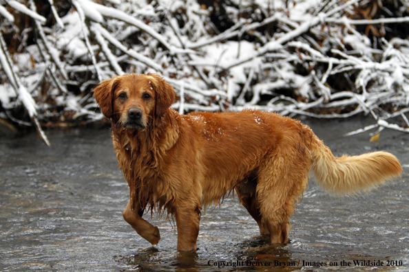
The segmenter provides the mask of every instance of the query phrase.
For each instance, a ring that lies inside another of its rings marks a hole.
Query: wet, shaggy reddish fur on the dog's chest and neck
[[[162,176],[162,166],[167,150],[178,140],[178,126],[167,123],[165,131],[155,135],[149,131],[129,133],[123,128],[112,128],[116,158],[131,198],[151,209],[169,209],[173,203],[169,182]]]

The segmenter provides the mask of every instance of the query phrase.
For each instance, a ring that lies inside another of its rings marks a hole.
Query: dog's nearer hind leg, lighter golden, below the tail
[[[266,160],[259,170],[256,198],[271,243],[289,242],[289,219],[309,177],[310,162],[302,148],[287,148]]]

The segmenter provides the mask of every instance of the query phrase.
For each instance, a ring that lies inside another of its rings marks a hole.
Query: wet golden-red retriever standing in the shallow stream
[[[174,88],[155,73],[103,80],[94,97],[112,122],[119,167],[129,185],[123,217],[157,245],[147,210],[176,219],[178,251],[196,251],[202,209],[235,190],[271,243],[289,242],[289,218],[310,172],[332,194],[365,192],[402,168],[388,152],[334,157],[311,128],[277,113],[194,112],[170,109]]]

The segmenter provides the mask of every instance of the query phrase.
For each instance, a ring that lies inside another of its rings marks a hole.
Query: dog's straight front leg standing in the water
[[[178,207],[175,212],[178,227],[178,251],[196,251],[199,234],[200,205]]]

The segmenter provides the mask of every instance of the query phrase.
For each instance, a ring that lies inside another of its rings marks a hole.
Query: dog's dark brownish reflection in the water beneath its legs
[[[116,261],[143,271],[298,271],[301,268],[300,260],[294,260],[291,251],[285,246],[270,245],[268,237],[257,236],[236,246],[234,256],[217,256],[200,249],[194,253],[165,253],[151,247],[117,257]]]

